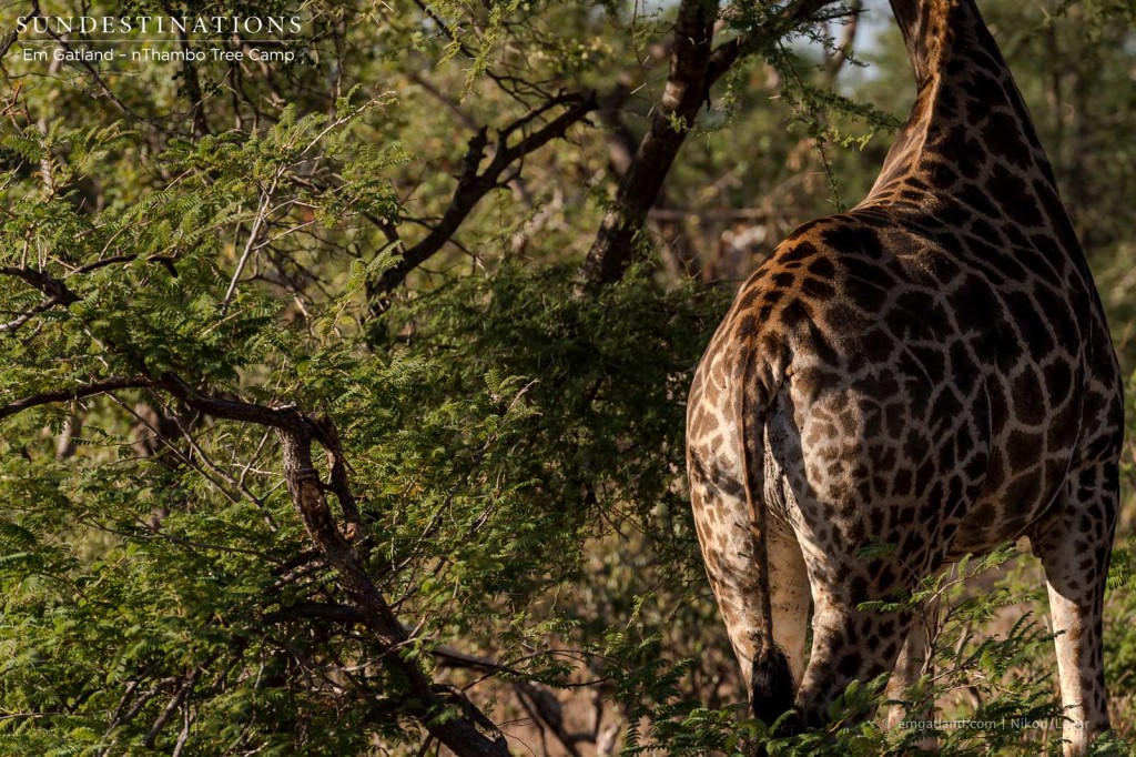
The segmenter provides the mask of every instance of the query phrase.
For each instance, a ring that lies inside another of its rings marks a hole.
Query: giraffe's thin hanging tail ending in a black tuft
[[[759,377],[765,358],[751,353],[742,369],[737,407],[741,408],[738,427],[742,435],[742,465],[745,482],[745,500],[750,514],[750,533],[753,539],[753,568],[758,580],[760,627],[757,629],[757,649],[753,669],[750,671],[750,704],[758,719],[771,725],[793,706],[796,684],[785,651],[774,641],[774,617],[769,590],[769,550],[766,534],[766,465],[765,427],[766,415],[772,398],[779,389],[784,372],[774,369],[774,381],[766,385]],[[791,726],[792,727],[792,726]]]

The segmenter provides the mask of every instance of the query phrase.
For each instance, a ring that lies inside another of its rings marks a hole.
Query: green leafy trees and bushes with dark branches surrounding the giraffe
[[[1136,11],[980,6],[1131,372]],[[765,734],[698,558],[684,401],[736,283],[862,196],[914,94],[886,9],[861,10],[311,0],[260,45],[295,63],[183,65],[27,61],[106,44],[15,19],[295,7],[0,8],[0,754]],[[1130,449],[1114,754],[1136,739]],[[1060,750],[1035,561],[933,596],[934,665],[903,698],[972,721],[943,751]],[[843,722],[770,750],[927,735]]]

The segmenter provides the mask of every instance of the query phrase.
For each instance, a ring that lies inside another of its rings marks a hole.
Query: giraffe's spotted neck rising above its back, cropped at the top
[[[914,180],[932,194],[1012,170],[1054,193],[1049,159],[974,0],[891,0],[919,93],[868,200]],[[961,174],[961,176],[960,176]]]

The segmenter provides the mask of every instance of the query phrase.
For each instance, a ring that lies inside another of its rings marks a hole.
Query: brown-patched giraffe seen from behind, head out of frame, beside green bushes
[[[816,724],[851,681],[910,675],[912,614],[862,602],[1028,536],[1060,632],[1064,751],[1081,754],[1109,729],[1116,352],[974,0],[891,3],[918,95],[875,185],[790,234],[695,373],[703,559],[754,715]]]

